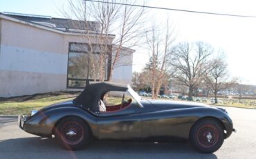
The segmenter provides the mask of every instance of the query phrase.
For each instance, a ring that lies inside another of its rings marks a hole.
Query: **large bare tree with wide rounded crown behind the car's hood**
[[[188,42],[182,42],[172,48],[170,64],[176,68],[174,79],[177,84],[188,86],[190,100],[194,89],[199,87],[211,70],[212,64],[208,58],[212,55],[212,51],[212,46],[202,41],[192,46]]]

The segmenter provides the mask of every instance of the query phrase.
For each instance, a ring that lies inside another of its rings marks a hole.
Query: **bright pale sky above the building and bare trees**
[[[65,0],[0,0],[0,12],[62,17],[58,8],[65,5]],[[147,6],[256,16],[256,2],[253,0],[148,0]],[[256,85],[256,18],[166,10],[150,10],[148,16],[154,17],[152,21],[158,24],[169,17],[177,35],[176,42],[205,41],[214,48],[221,48],[226,53],[230,77],[239,77],[243,84]],[[133,71],[144,68],[149,59],[146,52],[142,49],[136,51]]]

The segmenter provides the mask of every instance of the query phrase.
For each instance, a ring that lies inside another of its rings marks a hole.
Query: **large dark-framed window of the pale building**
[[[69,43],[67,88],[84,88],[86,81],[98,81],[100,78],[100,54],[107,53],[104,66],[104,79],[109,77],[111,64],[111,46],[83,43]]]

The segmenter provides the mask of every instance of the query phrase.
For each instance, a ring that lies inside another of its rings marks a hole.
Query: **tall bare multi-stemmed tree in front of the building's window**
[[[94,76],[98,76],[100,81],[103,81],[104,77],[106,77],[106,62],[111,62],[108,77],[109,81],[111,81],[113,77],[113,69],[116,66],[131,65],[130,62],[129,64],[118,63],[120,58],[129,56],[127,54],[122,54],[122,47],[134,46],[136,40],[143,36],[144,30],[142,24],[145,21],[145,17],[143,17],[145,8],[122,6],[116,3],[137,4],[138,1],[102,0],[93,2],[86,0],[68,0],[70,9],[68,11],[61,10],[62,15],[65,17],[73,17],[78,19],[80,24],[84,24],[84,30],[90,27],[88,21],[97,21],[98,25],[93,26],[97,28],[96,32],[84,32],[84,38],[89,42],[90,48],[93,48],[93,44],[98,44],[100,47],[101,53],[98,55],[99,57],[91,62],[93,71],[96,71],[95,68],[98,68],[98,73],[95,73]],[[111,33],[116,34],[116,39],[113,40],[113,35],[111,35]],[[96,36],[91,36],[91,34]],[[111,43],[110,46],[109,43]],[[113,54],[111,48],[112,45],[116,45],[116,51]],[[92,53],[90,57],[93,58]]]

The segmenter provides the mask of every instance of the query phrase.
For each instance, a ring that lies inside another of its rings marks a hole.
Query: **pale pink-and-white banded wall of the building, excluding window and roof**
[[[0,19],[0,35],[0,97],[66,91],[68,43],[88,43],[84,36],[6,19]],[[127,60],[132,55],[120,62]],[[131,83],[131,71],[131,65],[115,68],[113,81]]]

